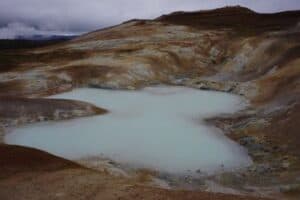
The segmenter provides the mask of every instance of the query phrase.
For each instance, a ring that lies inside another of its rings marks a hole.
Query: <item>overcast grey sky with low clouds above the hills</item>
[[[132,18],[242,5],[258,12],[300,9],[300,0],[0,0],[0,38],[77,34]]]

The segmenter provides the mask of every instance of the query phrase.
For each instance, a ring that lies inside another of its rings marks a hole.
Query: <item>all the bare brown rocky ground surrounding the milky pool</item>
[[[254,164],[212,179],[256,196],[159,189],[149,186],[145,174],[116,177],[2,144],[0,199],[299,198],[300,11],[176,12],[46,47],[3,50],[0,61],[2,134],[19,124],[106,112],[88,103],[41,98],[77,87],[169,84],[244,96],[248,109],[207,121],[245,146]]]

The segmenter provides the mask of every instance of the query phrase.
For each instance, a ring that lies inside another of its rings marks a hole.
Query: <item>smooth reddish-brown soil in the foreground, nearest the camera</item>
[[[143,186],[137,180],[84,169],[35,149],[0,146],[0,199],[263,200]]]

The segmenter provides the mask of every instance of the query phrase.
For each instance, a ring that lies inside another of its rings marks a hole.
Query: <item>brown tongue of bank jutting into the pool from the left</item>
[[[0,98],[2,128],[22,124],[58,121],[105,114],[107,111],[92,104],[73,100]]]

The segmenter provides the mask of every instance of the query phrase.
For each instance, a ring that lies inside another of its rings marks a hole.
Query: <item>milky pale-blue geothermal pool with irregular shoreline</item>
[[[134,168],[167,173],[213,173],[251,164],[247,152],[204,118],[245,107],[241,97],[185,87],[139,91],[76,89],[50,98],[93,103],[109,114],[22,126],[8,144],[45,150],[79,160],[96,156]]]

